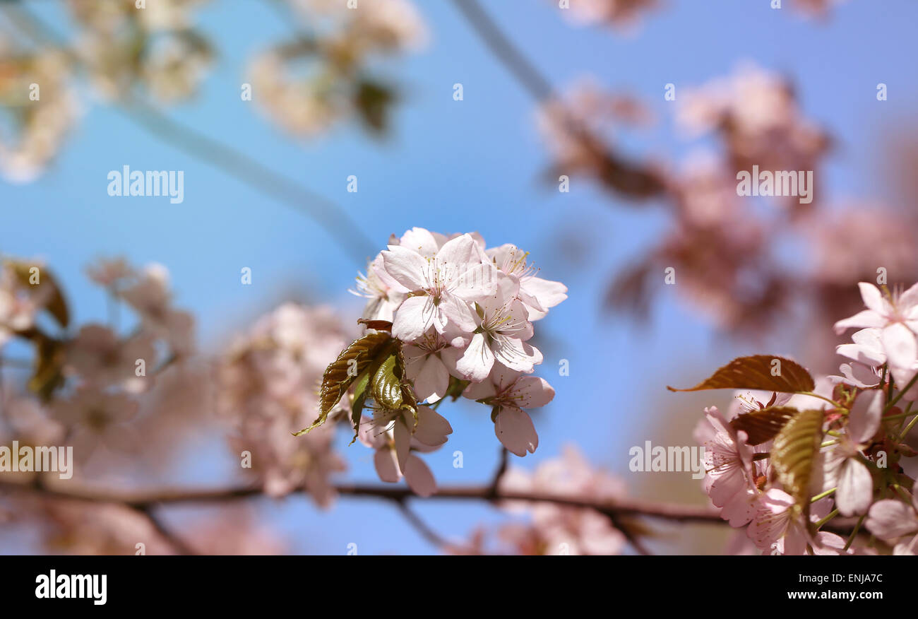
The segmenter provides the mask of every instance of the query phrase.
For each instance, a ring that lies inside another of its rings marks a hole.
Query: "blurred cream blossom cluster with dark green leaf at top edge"
[[[249,67],[252,89],[270,118],[310,137],[341,118],[357,116],[370,129],[386,127],[395,94],[366,75],[377,57],[416,50],[427,38],[406,0],[293,0],[308,32],[258,54]]]

